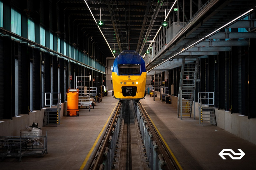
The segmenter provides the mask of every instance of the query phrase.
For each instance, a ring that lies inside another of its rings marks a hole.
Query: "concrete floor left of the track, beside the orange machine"
[[[6,158],[0,162],[1,170],[77,170],[104,128],[119,101],[112,94],[96,103],[94,109],[80,109],[79,117],[62,117],[60,125],[43,127],[48,132],[48,154],[38,157]],[[88,160],[88,159],[87,159]],[[82,169],[82,168],[81,168]]]

